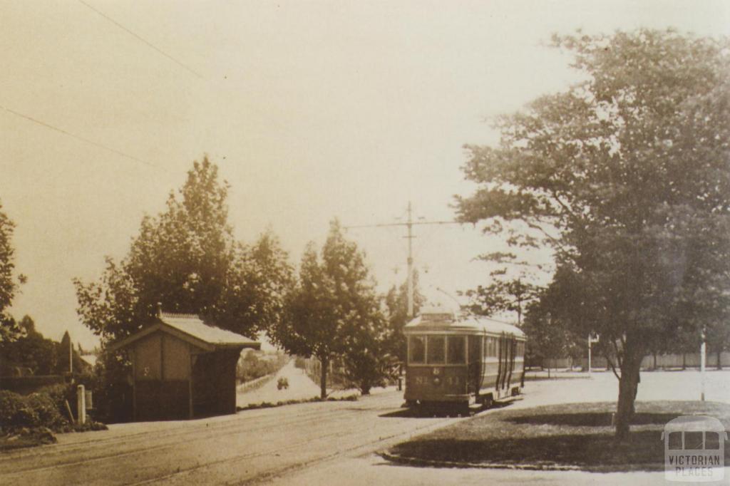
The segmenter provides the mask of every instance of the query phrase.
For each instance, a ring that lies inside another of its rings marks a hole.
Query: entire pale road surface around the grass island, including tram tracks
[[[610,373],[595,374],[592,379],[527,382],[525,399],[512,406],[615,401],[617,387]],[[708,373],[705,389],[708,400],[730,403],[730,372]],[[699,373],[642,374],[638,398],[697,399]],[[662,473],[393,466],[374,452],[463,420],[412,417],[399,410],[401,402],[401,393],[388,391],[356,402],[299,404],[211,419],[120,424],[111,425],[109,431],[61,434],[59,444],[0,455],[0,485],[664,484]],[[730,477],[730,472],[726,474]]]

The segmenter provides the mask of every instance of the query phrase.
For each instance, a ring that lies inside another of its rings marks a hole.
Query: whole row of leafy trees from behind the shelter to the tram
[[[320,250],[307,245],[299,271],[271,231],[253,244],[237,241],[227,194],[214,163],[194,163],[166,211],[142,220],[122,261],[107,258],[96,281],[74,279],[83,323],[112,342],[152,323],[160,302],[166,311],[198,314],[252,338],[266,333],[291,354],[318,358],[322,396],[335,358],[363,393],[380,385],[404,358],[402,291],[377,294],[364,253],[337,220]]]

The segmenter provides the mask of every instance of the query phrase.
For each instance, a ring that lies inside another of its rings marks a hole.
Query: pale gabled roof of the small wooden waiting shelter
[[[183,341],[190,342],[208,351],[237,347],[252,347],[255,349],[261,347],[260,342],[248,339],[238,333],[218,328],[215,325],[204,323],[197,315],[160,312],[155,323],[128,336],[126,339],[112,344],[110,350],[118,350],[126,347],[156,331],[172,334],[183,339]]]

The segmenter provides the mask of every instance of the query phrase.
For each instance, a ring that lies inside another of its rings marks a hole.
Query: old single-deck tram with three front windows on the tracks
[[[404,334],[406,406],[490,406],[522,390],[525,334],[515,325],[424,309]]]

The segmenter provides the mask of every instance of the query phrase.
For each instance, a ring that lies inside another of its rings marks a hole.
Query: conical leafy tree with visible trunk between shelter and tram
[[[337,220],[320,253],[313,243],[304,250],[288,312],[269,336],[288,352],[318,358],[322,398],[335,357],[342,358],[345,377],[363,393],[385,374],[385,318],[374,287],[363,252],[345,239]]]

